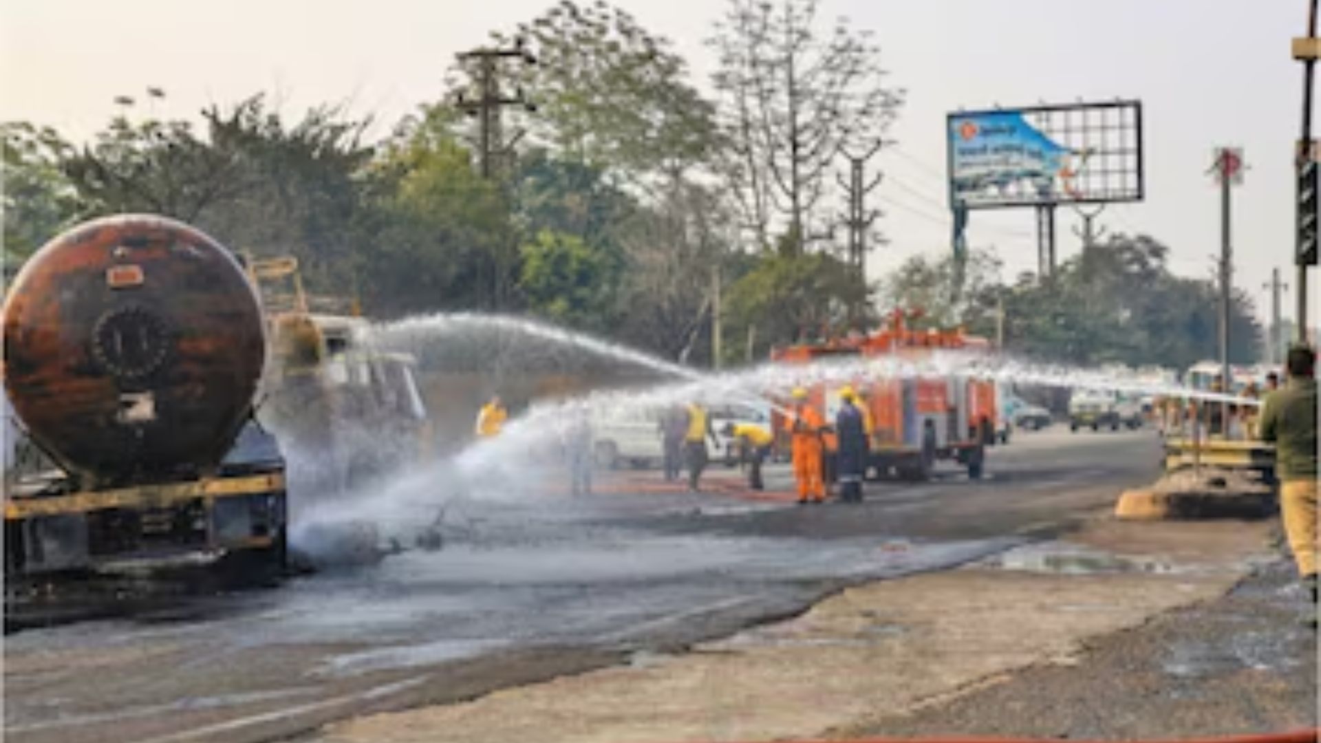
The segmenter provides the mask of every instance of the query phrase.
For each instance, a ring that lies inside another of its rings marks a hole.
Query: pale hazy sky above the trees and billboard
[[[371,115],[384,134],[443,94],[454,54],[493,29],[511,29],[552,0],[0,0],[0,119],[50,124],[87,137],[116,111],[116,95],[155,115],[190,116],[264,91],[291,115],[325,102]],[[723,3],[616,0],[668,37],[707,87],[704,45]],[[1207,278],[1221,249],[1219,192],[1207,175],[1217,145],[1242,147],[1248,169],[1232,193],[1234,283],[1269,313],[1271,270],[1292,266],[1303,66],[1289,40],[1305,30],[1306,0],[822,0],[877,34],[881,63],[908,100],[876,164],[872,206],[889,245],[871,256],[878,278],[910,255],[948,251],[945,116],[959,108],[1140,99],[1147,198],[1111,205],[1098,223],[1170,246],[1176,274]],[[1316,116],[1316,114],[1313,114]],[[1321,128],[1321,123],[1318,123]],[[1077,215],[1057,214],[1061,259],[1077,254]],[[976,212],[974,247],[993,246],[1004,278],[1034,271],[1032,209]],[[1313,270],[1309,316],[1317,316]],[[1293,315],[1284,296],[1284,316]]]

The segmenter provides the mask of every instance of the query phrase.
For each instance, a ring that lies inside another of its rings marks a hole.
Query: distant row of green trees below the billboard
[[[1203,280],[1173,276],[1169,249],[1145,237],[1114,235],[1066,260],[1048,280],[996,278],[999,263],[974,251],[963,291],[955,293],[952,262],[914,258],[886,282],[898,307],[921,307],[923,321],[962,324],[993,337],[996,303],[1004,301],[1005,348],[1017,354],[1079,365],[1127,364],[1186,369],[1217,358],[1218,293]],[[1236,292],[1231,311],[1234,362],[1259,356],[1262,329],[1251,299]]]

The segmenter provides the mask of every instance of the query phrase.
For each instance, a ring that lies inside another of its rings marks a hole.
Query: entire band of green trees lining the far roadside
[[[448,103],[379,145],[337,108],[289,119],[262,97],[197,124],[125,110],[78,148],[4,124],[7,259],[83,217],[155,212],[236,250],[292,254],[313,293],[361,295],[375,317],[526,309],[701,364],[719,283],[728,360],[863,329],[871,287],[806,243],[827,219],[840,145],[865,149],[901,94],[881,85],[867,33],[823,26],[816,5],[729,0],[713,40],[719,116],[684,59],[626,12],[555,5],[518,28],[540,63],[520,81],[502,63],[502,87],[520,83],[540,108],[506,122],[532,136],[493,180]],[[1185,368],[1217,353],[1217,296],[1172,276],[1166,255],[1118,235],[1049,280],[1012,286],[988,253],[962,266],[918,258],[882,297],[922,308],[919,324],[984,336],[1003,303],[1007,346],[1025,356]],[[1242,292],[1232,324],[1232,358],[1255,358],[1260,329]]]

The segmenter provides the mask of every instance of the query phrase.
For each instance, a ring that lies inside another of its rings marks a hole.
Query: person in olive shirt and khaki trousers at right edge
[[[1262,439],[1275,443],[1284,531],[1299,575],[1317,600],[1317,381],[1316,352],[1289,349],[1288,382],[1262,406]]]

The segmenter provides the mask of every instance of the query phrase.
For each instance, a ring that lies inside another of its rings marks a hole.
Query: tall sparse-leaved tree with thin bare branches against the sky
[[[882,83],[869,30],[840,19],[824,34],[819,0],[729,0],[711,44],[732,156],[725,171],[760,245],[771,212],[787,217],[789,255],[810,241],[841,147],[875,143],[897,115],[902,91]]]

